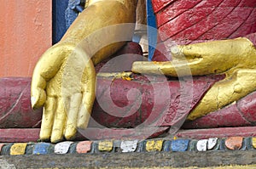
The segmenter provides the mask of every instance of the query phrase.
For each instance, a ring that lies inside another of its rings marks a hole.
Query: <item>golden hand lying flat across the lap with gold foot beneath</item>
[[[135,62],[132,71],[167,76],[226,74],[190,112],[188,120],[221,109],[256,89],[256,49],[247,38],[195,43],[171,50],[172,61]],[[185,70],[188,66],[189,71]]]

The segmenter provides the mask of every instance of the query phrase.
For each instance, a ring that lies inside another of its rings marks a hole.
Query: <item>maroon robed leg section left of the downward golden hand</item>
[[[0,128],[40,127],[42,109],[32,110],[31,78],[0,78]]]

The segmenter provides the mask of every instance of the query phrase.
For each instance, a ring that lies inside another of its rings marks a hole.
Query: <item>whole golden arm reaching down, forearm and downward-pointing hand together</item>
[[[90,0],[61,42],[39,59],[32,76],[32,108],[44,105],[42,140],[70,140],[77,127],[87,127],[95,100],[94,65],[131,39],[134,26],[116,25],[135,22],[136,2]]]

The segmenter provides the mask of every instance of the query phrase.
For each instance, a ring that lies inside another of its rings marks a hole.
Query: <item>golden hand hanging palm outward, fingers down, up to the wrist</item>
[[[56,143],[63,136],[69,140],[77,127],[87,127],[95,99],[95,81],[90,57],[72,44],[60,43],[44,53],[32,77],[32,107],[44,105],[42,140],[50,138]]]

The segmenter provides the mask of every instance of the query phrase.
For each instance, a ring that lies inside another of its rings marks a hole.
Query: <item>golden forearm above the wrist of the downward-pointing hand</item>
[[[131,40],[137,0],[90,1],[88,8],[73,22],[61,42],[80,44],[96,65]],[[126,39],[121,41],[120,39]]]

